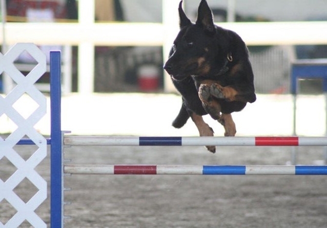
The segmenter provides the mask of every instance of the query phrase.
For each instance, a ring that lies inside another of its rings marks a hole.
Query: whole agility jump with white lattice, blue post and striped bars
[[[39,53],[35,49],[34,44],[20,44],[17,45],[15,53],[26,50],[33,57],[39,56]],[[14,52],[13,51],[13,52]],[[16,54],[17,54],[16,53]],[[0,71],[6,71],[7,73],[13,72],[17,74],[17,70],[13,69],[13,61],[15,60],[15,55],[11,53],[10,55],[0,55],[2,60],[6,60],[6,65],[0,64]],[[1,60],[1,61],[2,61]],[[44,58],[45,60],[45,58]],[[44,107],[45,98],[44,96],[40,98],[41,92],[36,91],[33,85],[26,86],[29,83],[35,83],[37,81],[37,76],[35,74],[39,73],[41,75],[45,71],[45,61],[42,58],[38,58],[39,64],[36,69],[33,70],[26,77],[15,76],[9,74],[16,82],[17,86],[15,91],[7,95],[7,97],[0,97],[0,114],[7,114],[10,118],[17,118],[15,121],[18,125],[21,123],[22,128],[18,128],[15,132],[9,135],[6,139],[0,138],[0,146],[8,148],[10,153],[3,152],[0,150],[0,157],[8,157],[13,164],[20,164],[21,158],[16,156],[12,157],[16,153],[12,149],[14,145],[38,145],[39,150],[33,154],[34,158],[38,156],[38,162],[40,162],[44,156],[46,156],[46,145],[51,146],[51,227],[63,227],[63,220],[68,218],[64,216],[64,187],[63,176],[65,174],[115,174],[115,175],[327,175],[327,166],[172,166],[172,165],[103,165],[103,166],[69,166],[65,164],[65,159],[63,157],[63,147],[65,145],[80,145],[80,146],[90,146],[90,145],[144,145],[144,146],[158,146],[158,145],[170,145],[170,146],[181,146],[181,145],[239,145],[239,146],[313,146],[313,145],[327,145],[327,137],[93,137],[93,136],[70,136],[65,135],[65,132],[61,130],[61,53],[59,51],[52,51],[50,53],[50,99],[51,99],[51,136],[49,139],[45,139],[43,136],[38,134],[33,128],[33,124],[36,123],[37,117],[40,119],[41,114],[44,112],[41,108]],[[40,63],[41,62],[41,63]],[[41,69],[39,69],[41,68]],[[10,70],[12,69],[12,71]],[[42,73],[43,72],[43,73]],[[25,89],[23,91],[23,89]],[[21,119],[15,110],[10,108],[12,104],[19,99],[20,95],[15,95],[15,93],[23,94],[27,93],[31,97],[35,96],[40,102],[40,108],[37,111],[41,111],[41,114],[33,113],[31,117],[26,118],[26,120]],[[16,98],[16,100],[14,99]],[[8,103],[6,103],[8,102]],[[6,107],[9,107],[7,110]],[[30,123],[29,123],[30,122]],[[29,133],[28,130],[32,132]],[[28,136],[29,139],[21,139],[23,136]],[[19,138],[20,137],[20,138]],[[41,149],[45,149],[40,153]],[[20,174],[25,174],[27,177],[32,173],[34,177],[35,166],[37,164],[31,164],[29,160],[22,164],[22,170],[16,172],[19,176],[12,176],[11,180],[15,178],[21,179]],[[30,166],[30,167],[27,167]],[[20,166],[17,165],[18,170]],[[33,178],[31,178],[32,180]],[[12,183],[4,182],[3,189],[5,189],[6,194],[3,196],[10,204],[15,207],[18,211],[17,216],[13,216],[4,227],[18,227],[20,224],[27,220],[34,227],[46,227],[44,221],[37,218],[34,213],[34,209],[38,207],[46,198],[46,182],[41,178],[37,179],[40,183],[39,192],[33,197],[33,207],[31,207],[31,212],[26,212],[26,204],[17,204],[18,196],[15,193],[9,192],[13,189],[12,186],[7,186]],[[7,186],[7,187],[6,187]],[[42,187],[41,187],[42,186]],[[38,199],[38,203],[36,203]],[[2,224],[1,224],[2,225]]]

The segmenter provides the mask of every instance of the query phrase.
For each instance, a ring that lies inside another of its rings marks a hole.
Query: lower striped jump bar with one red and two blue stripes
[[[327,166],[175,166],[175,165],[74,165],[70,174],[118,175],[327,175]]]

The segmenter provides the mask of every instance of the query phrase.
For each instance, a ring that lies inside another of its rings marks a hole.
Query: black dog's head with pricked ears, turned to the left
[[[226,62],[226,45],[224,39],[217,35],[218,30],[207,2],[201,0],[195,23],[186,17],[182,1],[178,11],[180,32],[163,68],[175,80],[183,80],[190,75],[218,74]]]

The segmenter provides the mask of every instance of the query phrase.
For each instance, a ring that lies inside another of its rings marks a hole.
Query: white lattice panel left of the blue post
[[[14,61],[25,51],[37,62],[36,66],[26,76],[14,65]],[[34,125],[40,121],[46,112],[46,98],[34,85],[45,71],[45,55],[33,43],[18,43],[5,55],[0,53],[0,74],[5,72],[16,84],[7,95],[0,95],[0,117],[6,115],[17,125],[16,130],[7,138],[0,137],[0,161],[1,159],[7,163],[9,161],[17,169],[6,180],[0,179],[0,207],[2,203],[9,203],[17,211],[5,224],[0,221],[0,227],[19,227],[21,223],[26,223],[26,221],[33,227],[46,227],[44,221],[34,212],[47,197],[47,183],[35,171],[35,167],[46,157],[46,139],[34,129]],[[35,110],[28,116],[21,115],[20,110],[15,108],[15,103],[22,96],[28,96],[37,104]],[[35,152],[26,160],[14,148],[22,138],[29,138],[36,145],[34,145],[36,147]],[[3,163],[1,164],[3,166]],[[1,168],[0,166],[1,169],[4,167]],[[14,191],[22,181],[27,181],[38,189],[27,202],[24,202]]]

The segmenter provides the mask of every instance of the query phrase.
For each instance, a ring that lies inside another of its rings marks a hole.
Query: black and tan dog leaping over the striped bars
[[[254,76],[245,42],[231,30],[214,25],[212,11],[201,0],[195,23],[178,7],[180,31],[163,68],[182,95],[182,107],[173,121],[176,128],[191,117],[200,136],[213,136],[202,118],[209,114],[235,136],[231,113],[256,100]],[[213,153],[216,147],[207,145]]]

